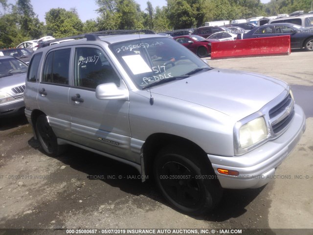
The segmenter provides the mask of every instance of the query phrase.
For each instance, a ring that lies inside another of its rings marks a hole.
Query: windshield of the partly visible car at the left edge
[[[27,72],[27,65],[15,58],[0,59],[0,77]]]

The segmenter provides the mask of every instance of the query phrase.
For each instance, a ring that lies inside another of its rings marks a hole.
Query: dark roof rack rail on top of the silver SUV
[[[105,30],[105,31],[97,31],[97,32],[92,32],[92,33],[80,34],[80,35],[69,36],[69,37],[65,37],[65,38],[58,38],[58,39],[46,41],[46,42],[40,44],[38,48],[47,47],[47,46],[50,46],[51,43],[59,42],[62,40],[67,40],[67,39],[86,38],[88,41],[97,41],[97,40],[100,40],[98,36],[119,35],[119,34],[135,34],[135,33],[156,34],[154,31],[149,30],[149,29]]]

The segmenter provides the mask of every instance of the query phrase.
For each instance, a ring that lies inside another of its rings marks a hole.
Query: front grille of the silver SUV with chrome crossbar
[[[289,94],[268,112],[269,120],[274,134],[283,131],[294,116],[294,102]]]

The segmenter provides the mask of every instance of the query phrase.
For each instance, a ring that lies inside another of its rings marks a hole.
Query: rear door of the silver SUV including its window
[[[56,135],[67,139],[70,132],[68,91],[70,86],[71,48],[48,52],[45,57],[37,102],[48,117]]]

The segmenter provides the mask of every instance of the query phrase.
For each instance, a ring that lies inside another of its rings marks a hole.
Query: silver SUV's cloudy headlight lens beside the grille
[[[239,146],[247,148],[266,139],[268,130],[263,117],[256,118],[243,125],[239,130]]]

